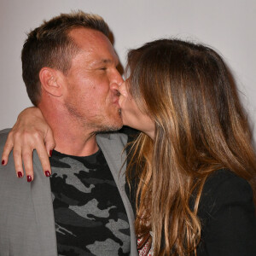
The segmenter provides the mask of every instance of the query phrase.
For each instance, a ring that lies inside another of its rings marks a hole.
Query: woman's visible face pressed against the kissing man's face
[[[126,81],[119,86],[119,106],[123,124],[143,131],[149,137],[154,138],[154,121],[149,118],[147,113],[143,113],[137,107],[137,103],[129,94],[127,86]]]

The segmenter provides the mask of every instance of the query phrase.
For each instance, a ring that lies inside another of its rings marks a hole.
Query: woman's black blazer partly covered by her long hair
[[[137,133],[127,131],[131,142]],[[131,147],[126,149],[129,152]],[[125,190],[135,212],[136,185],[131,183],[130,190],[126,184]],[[197,256],[256,256],[253,190],[245,179],[229,170],[213,172],[204,185],[197,215],[201,220]]]

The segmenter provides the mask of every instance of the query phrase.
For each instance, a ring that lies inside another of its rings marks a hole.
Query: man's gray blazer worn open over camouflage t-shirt
[[[9,130],[0,131],[0,154]],[[125,205],[131,230],[131,255],[137,255],[134,215],[125,194],[124,134],[97,135],[97,143],[108,162]],[[49,178],[44,172],[38,154],[33,155],[34,180],[15,174],[13,155],[7,166],[0,166],[0,256],[56,256],[55,219]]]

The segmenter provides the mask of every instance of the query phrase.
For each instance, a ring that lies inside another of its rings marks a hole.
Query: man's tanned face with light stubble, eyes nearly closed
[[[69,36],[81,49],[64,76],[64,104],[73,118],[91,131],[122,127],[119,114],[119,84],[123,82],[112,44],[102,33],[76,28]]]

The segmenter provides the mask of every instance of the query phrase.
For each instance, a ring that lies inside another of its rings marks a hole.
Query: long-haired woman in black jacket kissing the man
[[[126,72],[122,119],[142,131],[127,169],[140,247],[256,255],[255,154],[224,61],[201,44],[162,39],[131,50]]]

